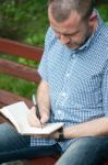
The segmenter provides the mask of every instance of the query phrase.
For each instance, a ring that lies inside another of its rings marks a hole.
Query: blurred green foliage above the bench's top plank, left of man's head
[[[43,6],[41,6],[43,4]],[[4,0],[0,6],[0,35],[43,45],[48,26],[46,0]]]

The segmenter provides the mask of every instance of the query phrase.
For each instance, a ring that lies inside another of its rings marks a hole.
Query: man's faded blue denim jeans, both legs
[[[0,124],[0,163],[43,157],[61,153],[57,143],[50,146],[31,146],[31,138],[20,135],[8,123]],[[61,155],[56,165],[100,165],[108,157],[108,138],[81,138]]]

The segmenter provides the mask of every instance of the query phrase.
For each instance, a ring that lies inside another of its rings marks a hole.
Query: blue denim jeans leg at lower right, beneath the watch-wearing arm
[[[108,158],[108,136],[81,138],[73,142],[56,165],[101,165]]]

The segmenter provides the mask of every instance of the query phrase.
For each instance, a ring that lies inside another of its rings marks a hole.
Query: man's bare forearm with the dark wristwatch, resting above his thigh
[[[65,128],[63,134],[64,139],[108,135],[108,118],[99,118]]]

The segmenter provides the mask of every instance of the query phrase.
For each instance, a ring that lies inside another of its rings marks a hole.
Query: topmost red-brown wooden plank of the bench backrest
[[[43,48],[0,38],[0,52],[38,62],[41,58]]]

